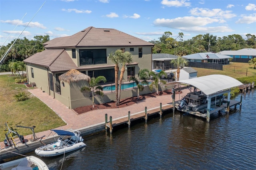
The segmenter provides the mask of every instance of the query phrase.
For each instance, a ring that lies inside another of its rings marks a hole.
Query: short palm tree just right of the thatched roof
[[[84,86],[80,89],[81,92],[84,91],[89,91],[92,92],[92,107],[94,107],[94,93],[96,95],[103,96],[104,93],[102,92],[103,87],[99,85],[100,81],[103,81],[106,83],[107,79],[104,76],[98,76],[98,77],[92,77],[91,80],[89,81],[89,87]]]

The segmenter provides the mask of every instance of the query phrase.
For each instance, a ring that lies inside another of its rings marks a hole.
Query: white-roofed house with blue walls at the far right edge
[[[225,51],[220,51],[219,53],[233,57],[234,59],[232,61],[245,62],[245,63],[248,63],[250,59],[256,57],[256,49],[252,49],[252,48],[244,48],[244,49],[239,49],[234,51],[225,50]]]

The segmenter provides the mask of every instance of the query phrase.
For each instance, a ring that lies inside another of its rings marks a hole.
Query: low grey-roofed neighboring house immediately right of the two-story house
[[[170,61],[172,59],[177,59],[177,55],[166,54],[166,53],[153,53],[152,54],[152,69],[173,69],[175,68]]]

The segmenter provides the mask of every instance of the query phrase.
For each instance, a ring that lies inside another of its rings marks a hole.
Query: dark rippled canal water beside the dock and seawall
[[[82,150],[42,160],[50,170],[256,169],[256,91],[242,95],[241,112],[210,123],[175,112],[84,140]]]

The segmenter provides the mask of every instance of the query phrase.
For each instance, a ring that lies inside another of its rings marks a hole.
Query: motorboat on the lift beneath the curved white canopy
[[[212,98],[211,106],[218,105],[224,101],[223,95]],[[214,100],[213,100],[214,99]],[[179,111],[192,111],[206,113],[207,109],[207,96],[202,91],[197,91],[196,88],[193,92],[188,93],[179,103],[175,104],[175,108]]]

